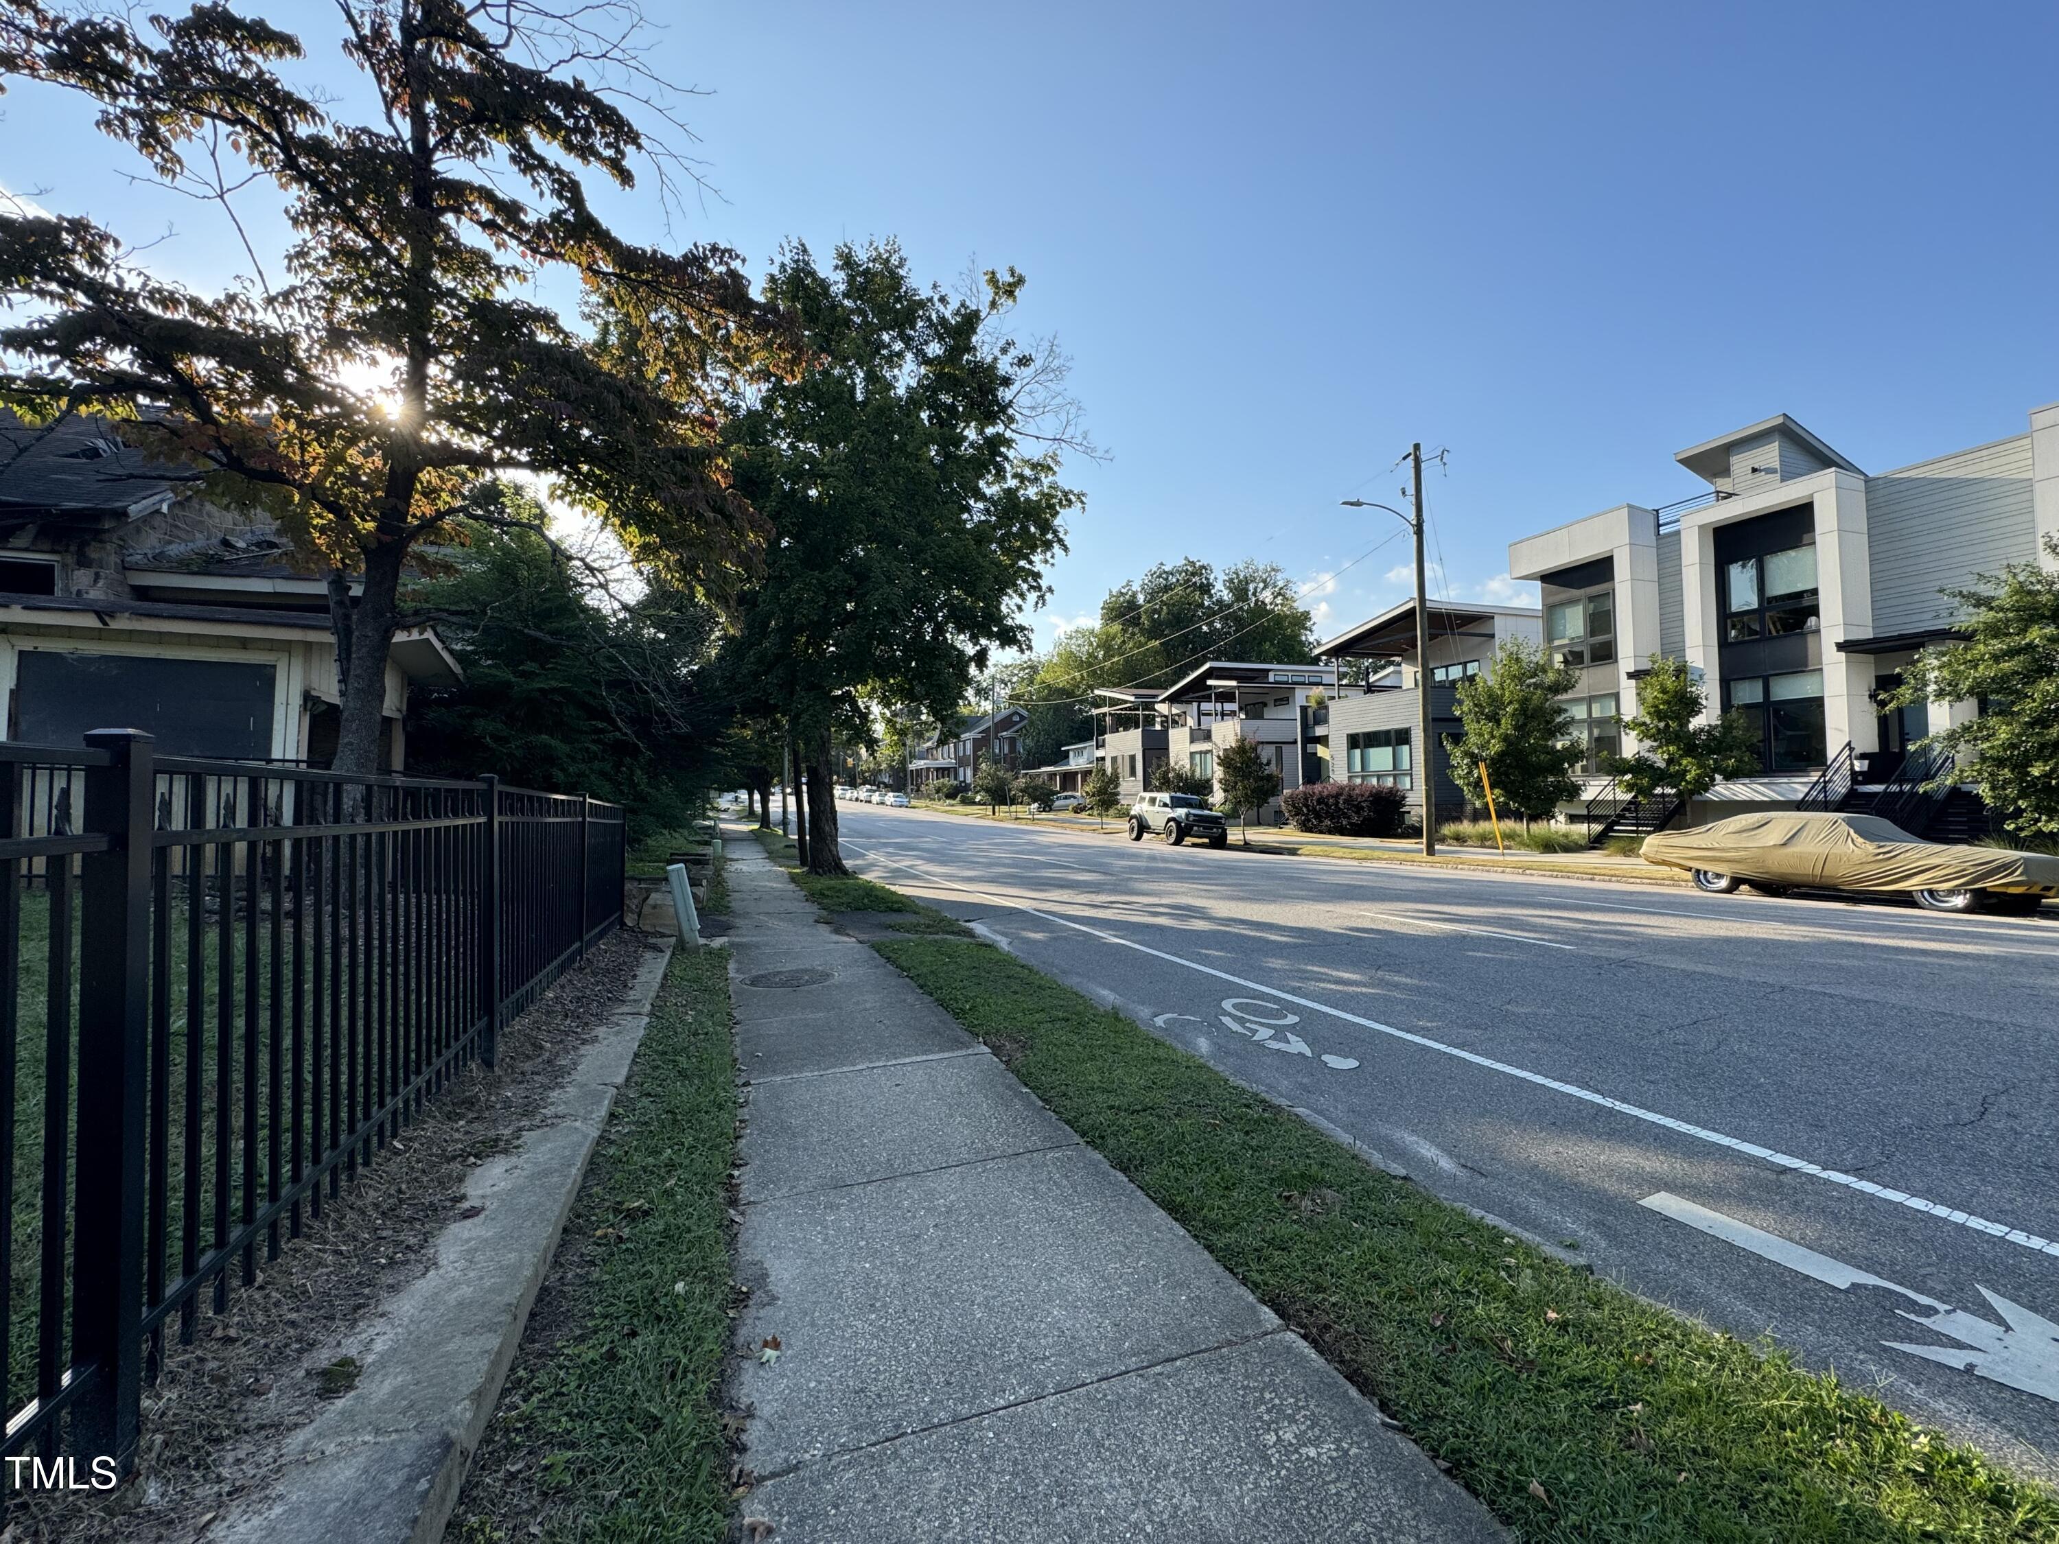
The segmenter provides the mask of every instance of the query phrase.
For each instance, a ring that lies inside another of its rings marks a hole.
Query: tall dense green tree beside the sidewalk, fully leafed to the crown
[[[828,268],[795,243],[766,280],[809,369],[733,420],[737,490],[778,539],[731,673],[803,745],[817,873],[844,867],[830,743],[869,731],[861,692],[949,721],[997,646],[1027,644],[1021,611],[1079,502],[1058,482],[1062,360],[1003,331],[1021,282],[922,288],[894,243],[840,245]]]

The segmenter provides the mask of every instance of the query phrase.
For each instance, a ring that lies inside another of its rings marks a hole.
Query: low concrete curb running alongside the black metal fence
[[[544,1124],[474,1169],[476,1217],[437,1235],[428,1272],[342,1346],[358,1385],[296,1431],[224,1544],[434,1544],[521,1346],[587,1161],[642,1042],[671,941],[638,968]]]

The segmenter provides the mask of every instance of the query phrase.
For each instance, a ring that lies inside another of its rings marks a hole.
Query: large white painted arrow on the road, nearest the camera
[[[1911,1324],[1921,1324],[1925,1330],[1948,1334],[1962,1344],[1919,1346],[1905,1340],[1882,1340],[1880,1344],[1892,1350],[1907,1350],[1911,1357],[1923,1357],[1925,1361],[1933,1361],[1942,1367],[1958,1367],[1975,1377],[1985,1377],[1989,1383],[2003,1383],[2008,1388],[2022,1390],[2024,1394],[2036,1394],[2040,1400],[2053,1400],[2059,1404],[2059,1324],[2053,1324],[2040,1313],[2032,1313],[2022,1303],[2012,1303],[2008,1297],[1981,1287],[1981,1297],[1985,1297],[2003,1320],[2001,1324],[1989,1324],[1977,1313],[1966,1313],[1966,1309],[1940,1303],[1935,1297],[1909,1291],[1892,1280],[1847,1266],[1843,1260],[1833,1260],[1826,1254],[1816,1254],[1814,1250],[1808,1250],[1791,1239],[1783,1239],[1779,1233],[1767,1233],[1763,1227],[1752,1227],[1750,1223],[1740,1223],[1736,1217],[1725,1217],[1723,1213],[1709,1210],[1707,1206],[1697,1206],[1692,1200],[1682,1200],[1666,1190],[1645,1196],[1637,1204],[1649,1206],[1662,1217],[1672,1217],[1676,1223],[1701,1229],[1709,1237],[1736,1243],[1740,1250],[1750,1250],[1760,1260],[1787,1266],[1789,1270],[1810,1276],[1812,1280],[1820,1280],[1826,1287],[1837,1287],[1839,1291],[1849,1291],[1853,1287],[1880,1287],[1890,1293],[1900,1293],[1911,1303],[1929,1311],[1911,1313],[1909,1309],[1896,1309],[1896,1313]],[[1973,1346],[1973,1350],[1966,1350],[1964,1346]]]

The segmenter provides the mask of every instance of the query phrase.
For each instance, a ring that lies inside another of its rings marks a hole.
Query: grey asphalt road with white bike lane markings
[[[1435,1194],[2059,1478],[2059,906],[838,815],[859,873]]]

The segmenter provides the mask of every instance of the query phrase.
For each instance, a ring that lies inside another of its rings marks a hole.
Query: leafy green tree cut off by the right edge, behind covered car
[[[2059,558],[2059,537],[2045,537]],[[1981,700],[1979,718],[1942,729],[1964,776],[2018,836],[2059,834],[2059,572],[2018,562],[1946,591],[1966,642],[1925,648],[1903,671],[1896,706]]]

